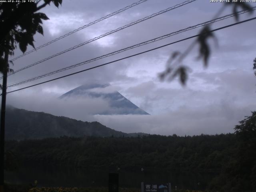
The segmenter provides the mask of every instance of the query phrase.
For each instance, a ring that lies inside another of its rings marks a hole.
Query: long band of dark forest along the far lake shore
[[[234,134],[130,138],[47,138],[6,142],[22,162],[83,168],[168,168],[219,172],[237,148]]]

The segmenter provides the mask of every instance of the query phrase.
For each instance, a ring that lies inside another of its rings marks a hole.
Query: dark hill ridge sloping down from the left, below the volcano
[[[130,137],[148,134],[128,134],[108,128],[99,122],[83,122],[64,116],[54,116],[45,112],[34,112],[6,106],[7,140],[43,139],[60,136],[83,137]]]

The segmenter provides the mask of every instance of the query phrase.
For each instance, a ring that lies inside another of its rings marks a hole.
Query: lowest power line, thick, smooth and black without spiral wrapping
[[[220,28],[217,28],[217,29],[214,29],[214,30],[210,30],[209,32],[206,32],[206,33],[214,32],[214,31],[217,31],[217,30],[221,30],[221,29],[224,29],[224,28],[228,28],[228,27],[231,27],[231,26],[234,26],[234,25],[238,25],[238,24],[241,24],[241,23],[244,23],[244,22],[248,22],[248,21],[251,21],[251,20],[255,20],[255,19],[256,19],[256,17],[250,18],[250,19],[247,19],[247,20],[243,20],[243,21],[240,21],[240,22],[236,22],[236,23],[234,23],[234,24],[230,24],[230,25],[226,25],[226,26],[224,26],[224,27],[220,27]],[[51,79],[51,80],[47,80],[47,81],[44,81],[44,82],[41,82],[41,83],[37,83],[37,84],[34,84],[34,85],[30,85],[30,86],[27,86],[27,87],[24,87],[24,88],[16,89],[16,90],[13,90],[13,91],[10,91],[10,92],[7,92],[7,93],[16,92],[16,91],[23,90],[23,89],[30,88],[30,87],[34,87],[34,86],[37,86],[37,85],[40,85],[40,84],[44,84],[44,83],[47,83],[47,82],[51,82],[51,81],[54,81],[54,80],[58,80],[58,79],[61,79],[61,78],[64,78],[64,77],[68,77],[68,76],[71,76],[71,75],[74,75],[74,74],[78,74],[78,73],[81,73],[81,72],[84,72],[84,71],[92,70],[92,69],[94,69],[94,68],[98,68],[98,67],[101,67],[101,66],[110,64],[110,63],[114,63],[114,62],[117,62],[117,61],[120,61],[120,60],[124,60],[124,59],[130,58],[130,57],[134,57],[134,56],[137,56],[137,55],[140,55],[140,54],[143,54],[143,53],[146,53],[146,52],[150,52],[150,51],[153,51],[153,50],[156,50],[156,49],[159,49],[159,48],[162,48],[162,47],[171,45],[171,44],[175,44],[175,43],[178,43],[178,42],[182,42],[182,41],[184,41],[184,40],[191,39],[191,38],[194,38],[194,37],[197,37],[197,36],[200,36],[200,34],[197,34],[197,35],[194,35],[194,36],[190,36],[190,37],[188,37],[188,38],[184,38],[184,39],[182,39],[182,40],[178,40],[178,41],[176,41],[176,42],[172,42],[172,43],[169,43],[169,44],[165,44],[165,45],[162,45],[162,46],[159,46],[159,47],[150,49],[150,50],[146,50],[146,51],[143,51],[143,52],[140,52],[140,53],[137,53],[137,54],[133,54],[133,55],[130,55],[130,56],[127,56],[127,57],[118,59],[118,60],[114,60],[114,61],[107,62],[107,63],[101,64],[101,65],[98,65],[98,66],[94,66],[94,67],[91,67],[91,68],[88,68],[88,69],[84,69],[84,70],[81,70],[81,71],[78,71],[78,72],[74,72],[74,73],[71,73],[71,74],[68,74],[68,75],[64,75],[64,76],[61,76],[61,77],[58,77],[58,78],[54,78],[54,79]],[[2,94],[1,94],[1,95],[2,95]]]

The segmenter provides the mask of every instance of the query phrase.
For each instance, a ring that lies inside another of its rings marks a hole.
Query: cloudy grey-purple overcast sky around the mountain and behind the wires
[[[63,0],[60,8],[56,8],[53,4],[46,6],[41,12],[45,12],[50,20],[43,22],[44,36],[36,34],[35,46],[40,46],[133,2],[136,0]],[[181,2],[181,0],[148,0],[24,56],[16,60],[12,68],[17,70]],[[210,3],[209,0],[196,0],[9,76],[8,84],[206,22],[211,20],[223,5],[224,3]],[[256,6],[256,3],[250,3],[250,5]],[[226,7],[221,16],[231,12],[231,7]],[[255,12],[251,15],[243,14],[240,20],[255,16]],[[213,24],[212,28],[234,22],[234,18],[229,18]],[[168,44],[195,35],[199,31],[200,28],[190,30],[72,70],[10,88],[8,91]],[[84,121],[96,120],[123,132],[164,135],[234,132],[233,128],[238,121],[256,110],[256,77],[252,70],[252,63],[256,57],[255,31],[256,21],[253,20],[214,32],[218,43],[214,43],[214,40],[209,41],[212,52],[208,68],[204,68],[202,60],[196,59],[198,56],[196,46],[182,62],[191,68],[185,87],[177,79],[172,82],[161,82],[158,73],[164,71],[172,52],[176,50],[183,52],[194,39],[10,93],[7,95],[7,103],[17,108],[43,111],[57,116]],[[31,49],[28,47],[28,50]],[[15,56],[20,54],[20,50],[16,50]],[[122,95],[151,115],[90,116],[92,111],[100,111],[108,105],[103,100],[93,98],[70,100],[65,103],[58,100],[58,97],[65,92],[91,82],[110,83]]]

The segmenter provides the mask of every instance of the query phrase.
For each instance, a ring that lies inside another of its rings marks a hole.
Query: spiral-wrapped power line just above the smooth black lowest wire
[[[256,9],[256,6],[253,7],[253,9],[255,10]],[[36,76],[36,77],[33,77],[33,78],[29,78],[29,79],[26,79],[26,80],[22,80],[22,81],[19,81],[19,82],[16,82],[16,83],[12,83],[10,85],[8,85],[7,87],[12,87],[12,86],[18,86],[18,85],[21,85],[21,84],[24,84],[24,83],[27,83],[27,82],[31,82],[33,80],[37,80],[37,79],[40,79],[40,78],[44,78],[46,76],[50,76],[50,75],[53,75],[53,74],[56,74],[58,72],[62,72],[62,71],[65,71],[65,70],[69,70],[71,68],[75,68],[75,67],[78,67],[78,66],[81,66],[81,65],[84,65],[84,64],[87,64],[87,63],[90,63],[90,62],[94,62],[96,60],[99,60],[99,59],[102,59],[102,58],[106,58],[108,56],[112,56],[112,55],[115,55],[115,54],[119,54],[121,52],[124,52],[124,51],[127,51],[127,50],[130,50],[130,49],[133,49],[133,48],[136,48],[136,47],[139,47],[139,46],[143,46],[143,45],[146,45],[146,44],[150,44],[150,43],[153,43],[153,42],[156,42],[158,40],[162,40],[164,38],[168,38],[170,36],[174,36],[176,34],[180,34],[182,32],[186,32],[188,30],[192,30],[192,29],[195,29],[195,28],[198,28],[198,27],[202,27],[202,26],[205,26],[205,25],[208,25],[208,24],[212,24],[214,22],[218,22],[220,20],[224,20],[224,19],[227,19],[227,18],[230,18],[230,17],[233,17],[235,15],[240,15],[240,14],[244,14],[248,12],[247,10],[243,10],[243,11],[240,11],[240,12],[236,12],[234,14],[228,14],[226,16],[222,16],[220,18],[216,18],[216,19],[213,19],[213,20],[210,20],[210,21],[207,21],[207,22],[204,22],[204,23],[201,23],[201,24],[197,24],[197,25],[194,25],[194,26],[190,26],[188,28],[185,28],[185,29],[182,29],[182,30],[178,30],[176,32],[172,32],[172,33],[169,33],[169,34],[166,34],[164,36],[160,36],[160,37],[157,37],[157,38],[154,38],[154,39],[151,39],[151,40],[148,40],[148,41],[145,41],[145,42],[142,42],[142,43],[139,43],[139,44],[136,44],[136,45],[133,45],[133,46],[129,46],[129,47],[126,47],[126,48],[123,48],[123,49],[120,49],[120,50],[117,50],[115,52],[111,52],[111,53],[108,53],[108,54],[105,54],[105,55],[102,55],[102,56],[99,56],[99,57],[96,57],[96,58],[93,58],[93,59],[90,59],[90,60],[87,60],[87,61],[84,61],[84,62],[80,62],[78,64],[74,64],[74,65],[71,65],[71,66],[68,66],[68,67],[65,67],[65,68],[61,68],[61,69],[58,69],[58,70],[55,70],[55,71],[52,71],[52,72],[48,72],[46,74],[43,74],[43,75],[40,75],[40,76]]]

